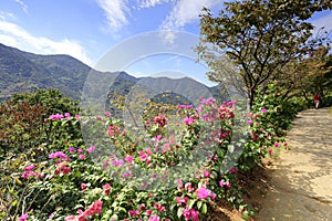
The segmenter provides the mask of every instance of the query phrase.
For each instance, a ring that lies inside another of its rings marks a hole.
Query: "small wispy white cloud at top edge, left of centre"
[[[107,25],[113,32],[128,23],[126,18],[126,13],[129,12],[128,0],[96,0],[96,3],[105,11]]]

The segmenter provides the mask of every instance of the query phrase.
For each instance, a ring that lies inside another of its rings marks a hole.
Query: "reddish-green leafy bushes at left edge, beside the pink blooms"
[[[75,113],[76,104],[56,90],[17,94],[0,104],[0,189],[1,204],[8,219],[15,219],[22,207],[28,210],[35,206],[35,201],[40,202],[39,198],[45,197],[45,192],[22,181],[21,169],[30,164],[39,165],[38,171],[41,173],[48,154],[64,145],[62,126],[48,124],[45,118],[53,112]],[[71,133],[65,135],[66,139],[71,138],[73,144],[83,143],[79,124],[63,127]]]

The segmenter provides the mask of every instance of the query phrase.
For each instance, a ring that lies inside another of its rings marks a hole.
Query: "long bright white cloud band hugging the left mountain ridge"
[[[0,21],[0,42],[24,51],[39,54],[68,54],[87,65],[93,62],[87,57],[85,49],[72,40],[53,41],[43,36],[34,36],[15,23]]]

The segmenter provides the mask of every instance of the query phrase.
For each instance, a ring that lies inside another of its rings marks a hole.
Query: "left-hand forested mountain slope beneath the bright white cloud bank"
[[[37,88],[59,88],[79,98],[90,71],[69,55],[38,55],[0,44],[0,98]]]

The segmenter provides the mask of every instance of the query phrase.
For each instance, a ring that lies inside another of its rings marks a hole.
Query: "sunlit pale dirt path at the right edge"
[[[299,113],[267,181],[255,220],[332,220],[332,114],[329,108]]]

